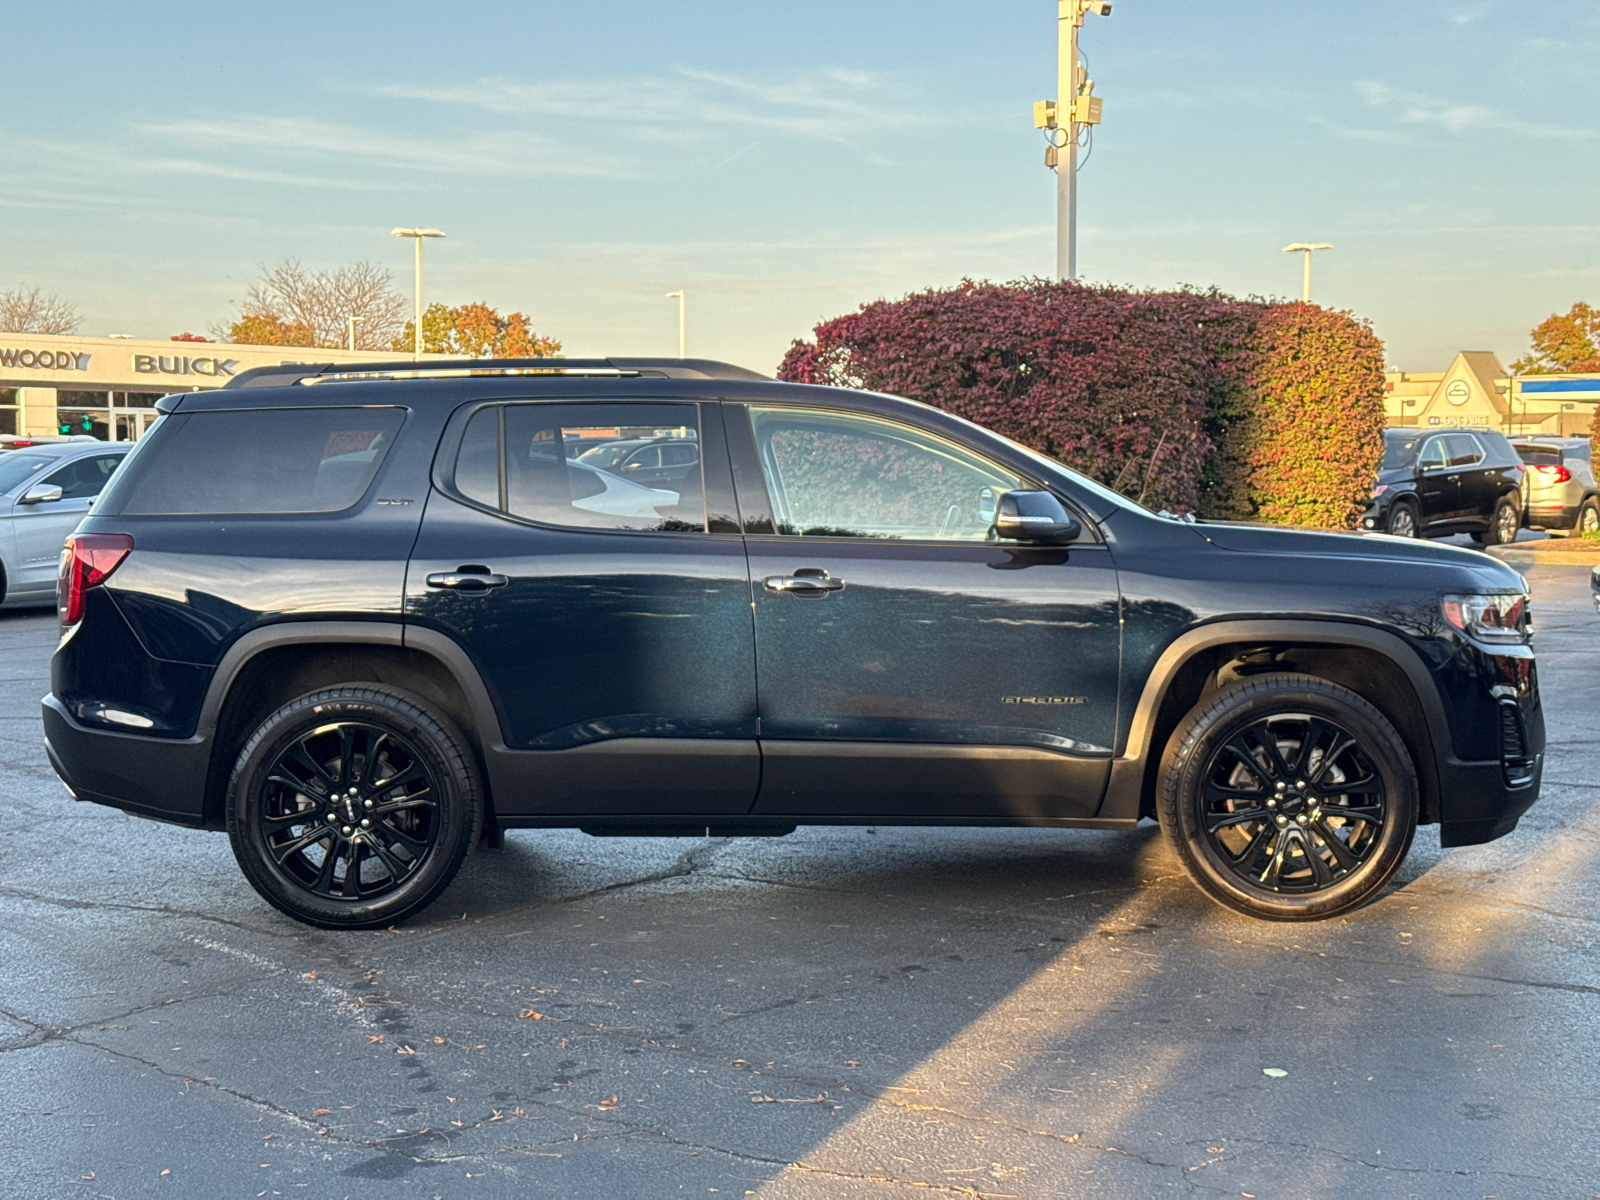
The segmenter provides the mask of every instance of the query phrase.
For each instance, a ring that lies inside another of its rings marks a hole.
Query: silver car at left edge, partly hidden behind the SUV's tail
[[[131,442],[67,442],[0,454],[0,606],[56,603],[61,547]]]

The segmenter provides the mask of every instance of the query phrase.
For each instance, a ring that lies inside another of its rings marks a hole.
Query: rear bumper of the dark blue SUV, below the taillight
[[[43,699],[45,754],[75,800],[173,821],[205,822],[208,738],[141,738],[78,725],[54,696]]]

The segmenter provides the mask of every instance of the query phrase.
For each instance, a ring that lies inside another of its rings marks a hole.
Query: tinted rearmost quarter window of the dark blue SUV
[[[402,408],[179,413],[146,435],[104,510],[130,517],[339,512],[362,498]]]

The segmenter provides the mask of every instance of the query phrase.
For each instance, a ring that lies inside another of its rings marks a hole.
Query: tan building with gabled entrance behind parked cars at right
[[[1390,426],[1478,426],[1512,437],[1586,437],[1600,374],[1512,374],[1488,350],[1462,350],[1446,371],[1386,371]]]

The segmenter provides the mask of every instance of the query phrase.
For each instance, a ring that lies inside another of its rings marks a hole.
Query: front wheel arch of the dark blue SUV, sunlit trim
[[[1166,741],[1202,698],[1242,675],[1298,670],[1362,696],[1395,726],[1416,765],[1421,824],[1440,819],[1438,746],[1450,723],[1416,651],[1382,629],[1339,621],[1221,621],[1178,637],[1157,659],[1112,762],[1099,816],[1154,816]]]

